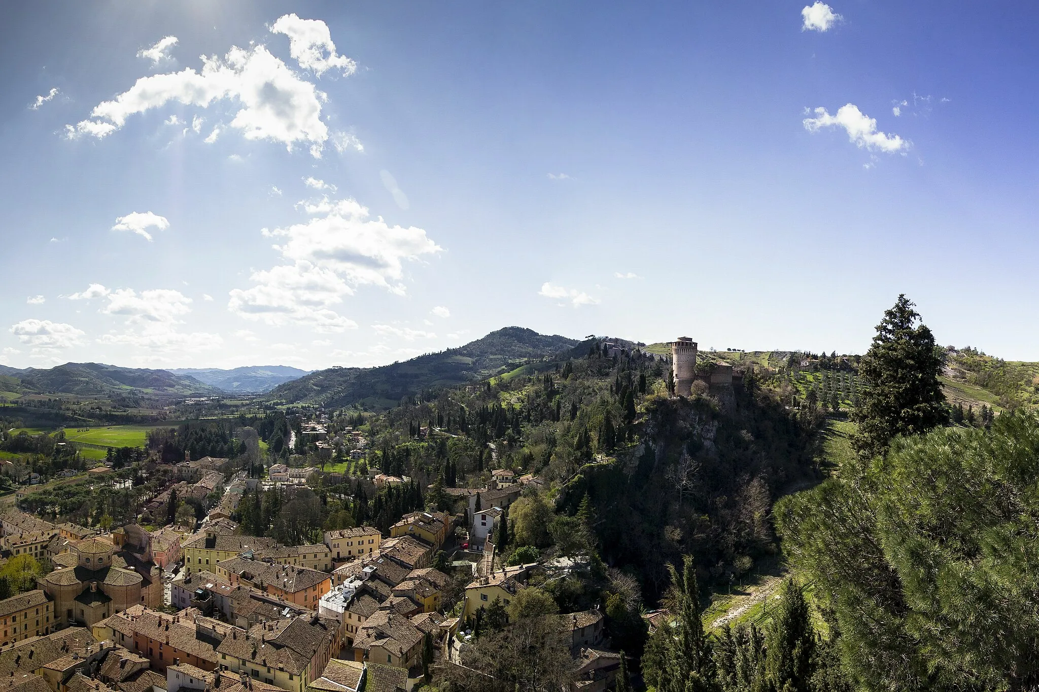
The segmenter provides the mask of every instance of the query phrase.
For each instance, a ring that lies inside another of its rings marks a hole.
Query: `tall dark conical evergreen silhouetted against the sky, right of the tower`
[[[934,335],[909,299],[899,296],[858,368],[864,389],[852,415],[858,423],[852,445],[860,456],[883,454],[896,436],[920,435],[945,422],[940,371]]]

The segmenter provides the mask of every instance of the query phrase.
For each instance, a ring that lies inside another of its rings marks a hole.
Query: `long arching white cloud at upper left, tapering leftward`
[[[246,139],[282,142],[290,151],[295,143],[309,142],[311,153],[320,156],[328,139],[328,128],[321,120],[321,104],[326,96],[312,83],[297,77],[263,46],[248,50],[235,46],[223,59],[203,56],[202,60],[201,73],[187,67],[141,77],[128,91],[95,107],[90,112],[95,119],[65,126],[66,136],[106,137],[131,115],[161,108],[171,101],[208,108],[231,99],[242,106],[231,127],[241,130]],[[213,134],[210,137],[215,139]]]

